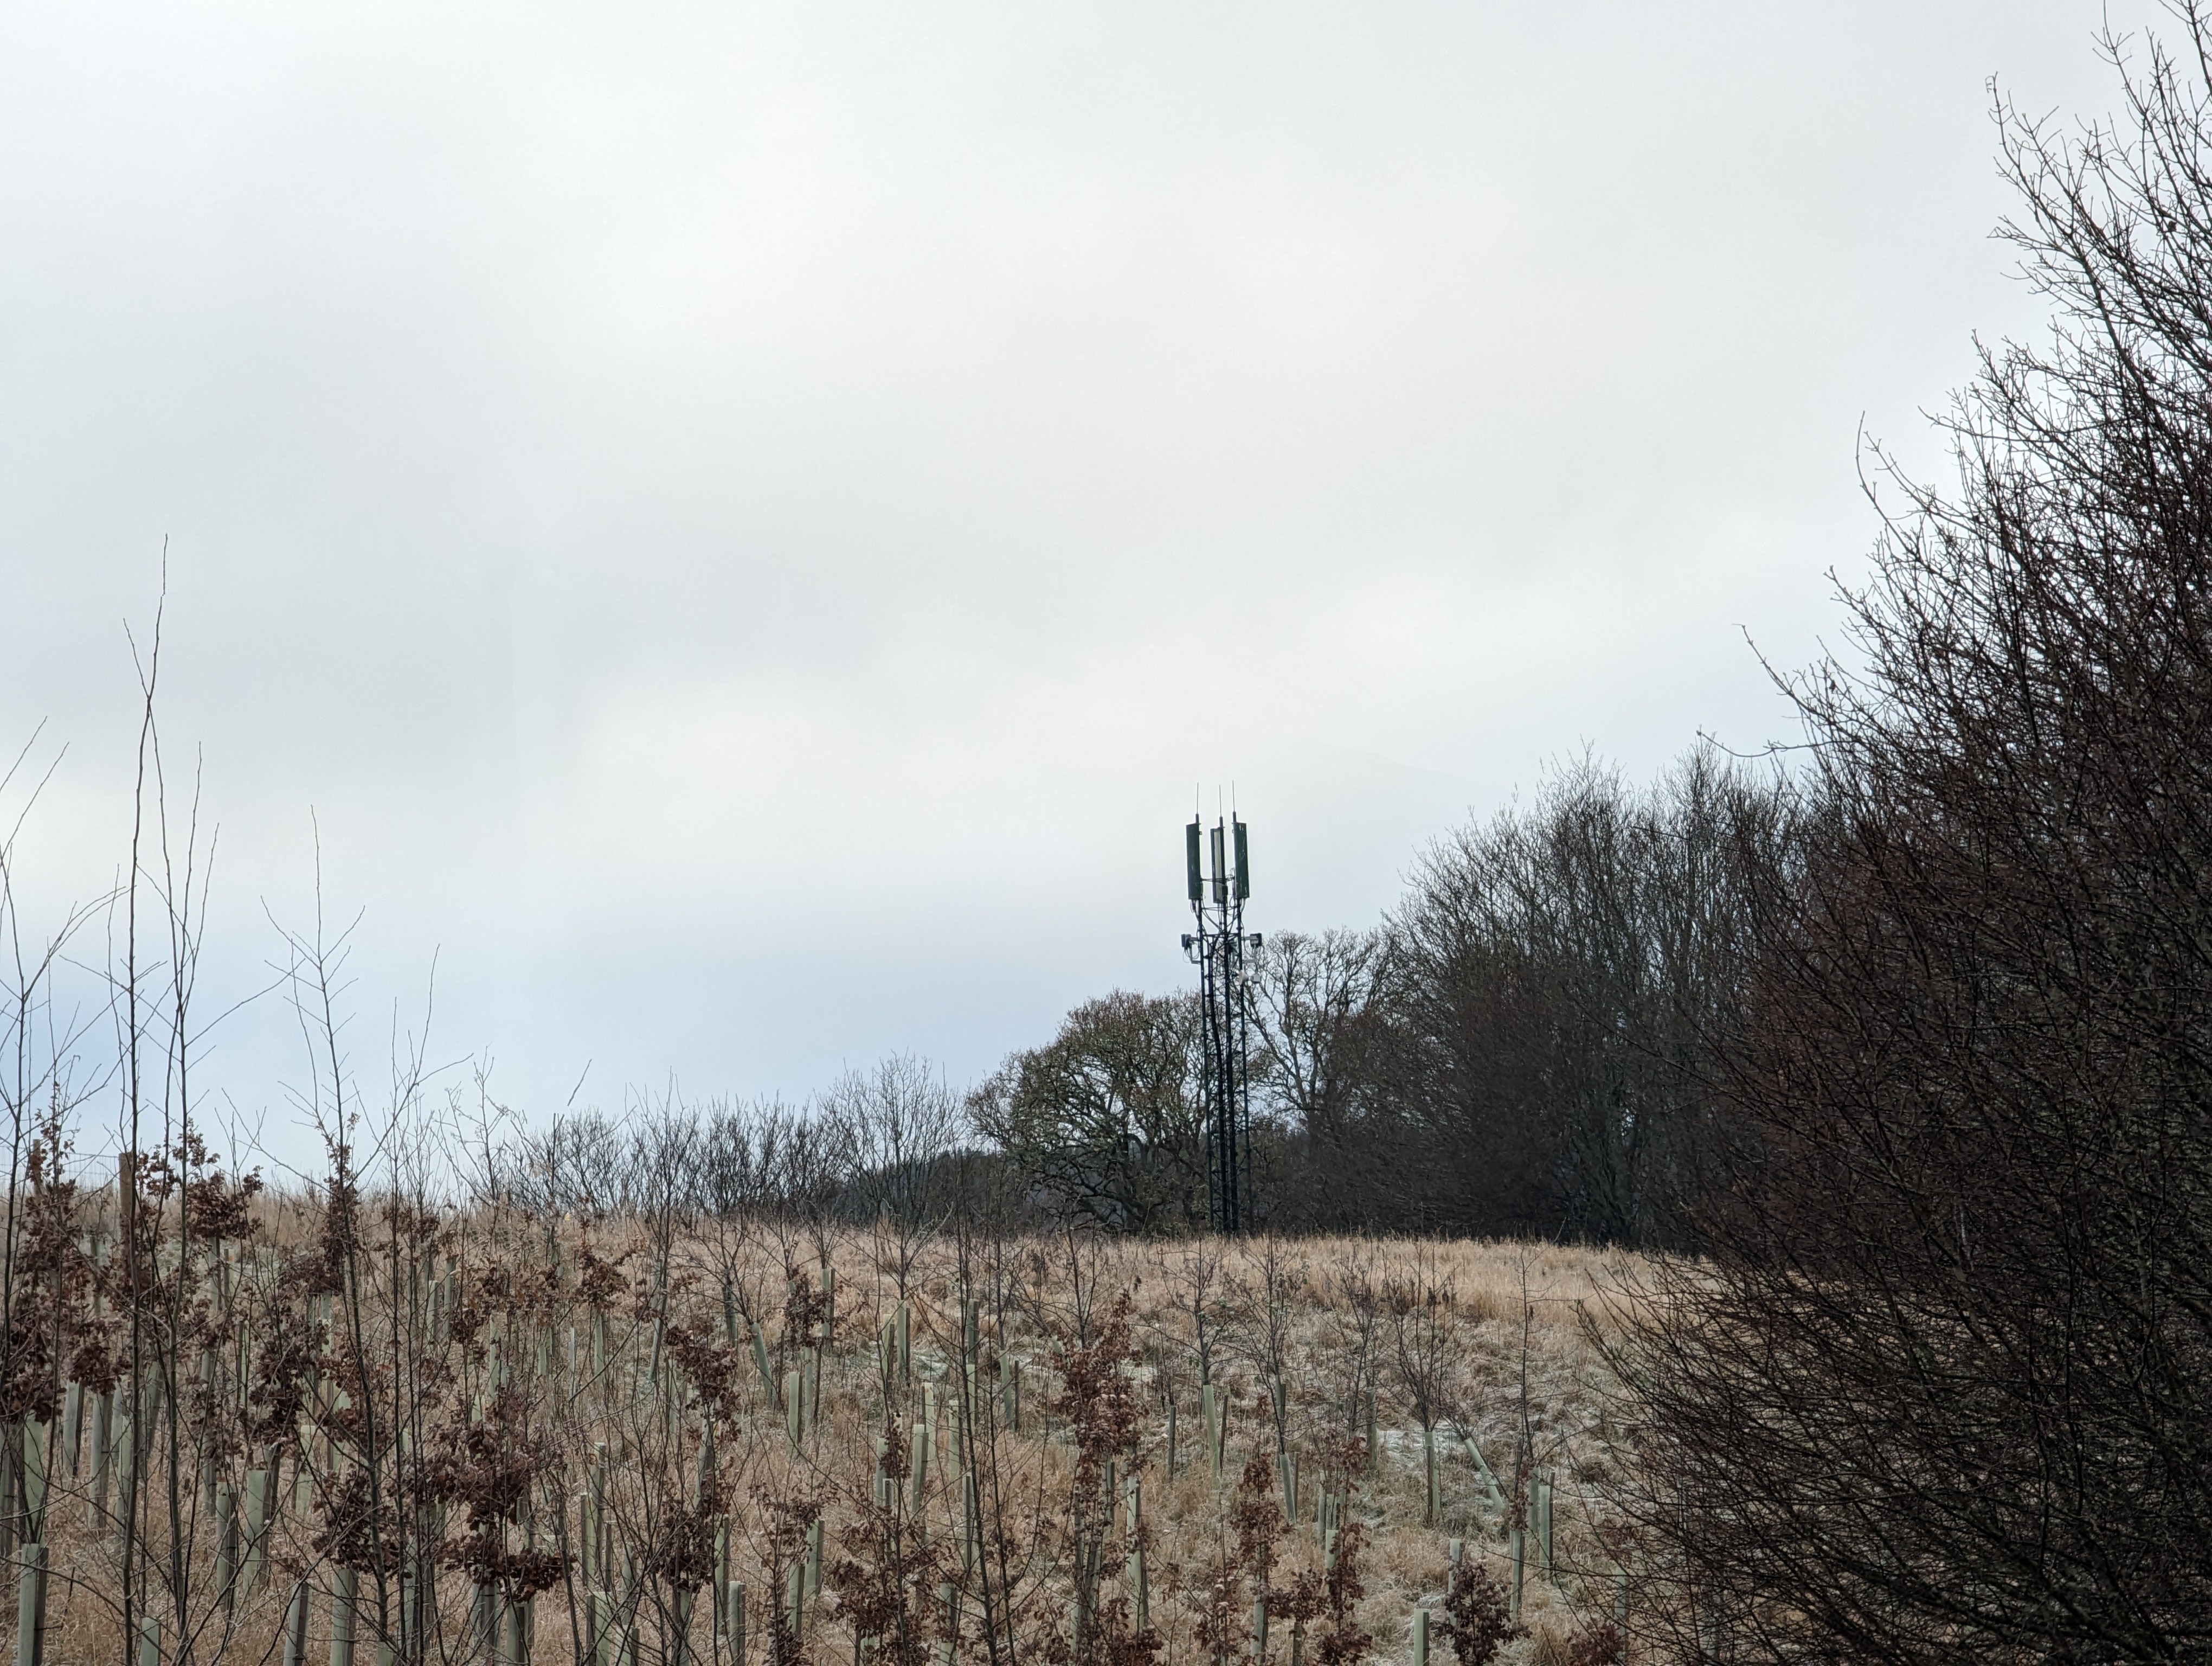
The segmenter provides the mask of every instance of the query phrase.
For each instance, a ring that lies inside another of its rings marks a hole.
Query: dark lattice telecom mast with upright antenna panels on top
[[[1212,872],[1206,856],[1212,854]],[[1234,861],[1232,861],[1234,858]],[[1259,947],[1245,936],[1243,905],[1252,896],[1245,825],[1232,814],[1183,827],[1183,865],[1197,931],[1183,951],[1199,967],[1199,1018],[1206,1035],[1206,1221],[1217,1232],[1252,1226],[1252,1100],[1245,1080],[1243,954]]]

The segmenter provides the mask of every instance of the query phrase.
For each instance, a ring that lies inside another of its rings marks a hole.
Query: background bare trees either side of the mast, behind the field
[[[1674,1248],[1723,1157],[1714,1047],[1814,821],[1712,746],[1650,785],[1584,759],[1420,861],[1360,931],[1250,958],[1259,1208],[1279,1230],[1440,1230]],[[1068,1013],[971,1095],[1051,1201],[1206,1224],[1192,993]]]

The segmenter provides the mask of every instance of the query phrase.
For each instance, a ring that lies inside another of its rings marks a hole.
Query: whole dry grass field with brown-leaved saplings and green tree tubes
[[[144,1201],[126,1254],[113,1193],[33,1197],[15,1232],[51,1662],[1303,1666],[1413,1659],[1422,1608],[1447,1662],[1484,1580],[1500,1659],[1610,1657],[1586,1325],[1628,1257],[219,1184],[186,1217]]]

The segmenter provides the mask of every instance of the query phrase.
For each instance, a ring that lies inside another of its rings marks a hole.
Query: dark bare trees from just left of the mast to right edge
[[[1259,969],[1279,1219],[1699,1252],[1608,1341],[1666,1657],[2212,1655],[2212,18],[2172,15],[2106,35],[2108,119],[2000,100],[2051,327],[1980,350],[1953,482],[1874,454],[1790,770],[1575,766]],[[1188,1221],[1139,1064],[1181,1013],[1077,1009],[980,1124]]]

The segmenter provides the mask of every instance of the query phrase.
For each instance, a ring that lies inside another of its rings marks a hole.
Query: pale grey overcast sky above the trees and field
[[[27,925],[164,540],[208,998],[319,825],[372,1075],[436,956],[540,1113],[967,1082],[1188,978],[1232,785],[1259,929],[1374,923],[1548,761],[1790,735],[1745,635],[2035,327],[1986,84],[2108,111],[2101,11],[0,0]]]

